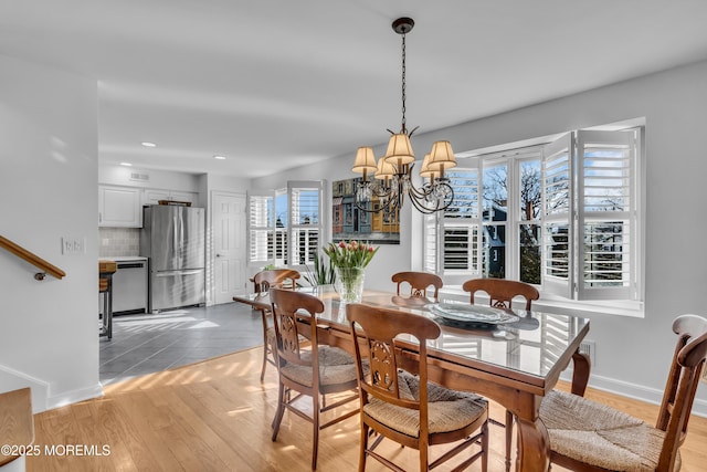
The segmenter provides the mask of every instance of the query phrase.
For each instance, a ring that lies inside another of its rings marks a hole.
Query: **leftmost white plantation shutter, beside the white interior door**
[[[275,263],[275,192],[249,192],[249,264]]]

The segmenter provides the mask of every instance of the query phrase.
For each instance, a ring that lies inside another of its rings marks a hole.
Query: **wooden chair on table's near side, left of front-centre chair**
[[[324,303],[319,298],[282,289],[271,289],[270,297],[275,328],[275,363],[279,378],[272,439],[277,440],[285,410],[310,421],[314,428],[312,469],[316,469],[319,430],[358,413],[357,409],[351,408],[324,424],[320,422],[321,413],[358,399],[355,391],[358,385],[356,363],[345,350],[318,343],[316,315],[324,312]],[[309,342],[303,343],[303,338],[308,338]],[[351,395],[339,396],[336,401],[325,405],[324,396],[347,390],[351,390]],[[292,395],[293,392],[296,395]],[[308,415],[308,409],[303,411],[297,408],[296,401],[302,396],[312,397],[312,415]]]

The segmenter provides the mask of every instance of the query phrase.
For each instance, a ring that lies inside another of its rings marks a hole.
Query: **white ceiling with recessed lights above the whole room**
[[[705,0],[0,0],[0,54],[98,82],[101,164],[257,177],[400,128],[404,15],[420,132],[707,57]]]

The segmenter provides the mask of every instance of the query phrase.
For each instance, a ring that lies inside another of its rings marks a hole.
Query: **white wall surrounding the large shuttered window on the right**
[[[563,130],[631,118],[646,119],[645,317],[591,316],[588,339],[597,342],[590,384],[658,401],[675,336],[676,315],[707,316],[707,62],[666,71],[582,94],[466,123],[413,139],[415,149],[449,139],[455,151],[515,143]],[[493,92],[489,92],[493,93]],[[376,149],[380,155],[382,147]],[[327,162],[257,179],[256,188],[283,187],[287,179],[352,177],[355,150]],[[382,247],[367,271],[367,286],[390,287],[390,274],[416,264],[421,234],[411,233],[403,214],[403,244]],[[412,240],[412,243],[410,242]],[[695,411],[707,415],[707,388],[698,390]]]

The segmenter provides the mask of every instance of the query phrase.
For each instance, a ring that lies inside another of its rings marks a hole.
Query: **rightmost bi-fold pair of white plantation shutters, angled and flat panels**
[[[636,300],[639,130],[579,130],[542,159],[542,290]]]

